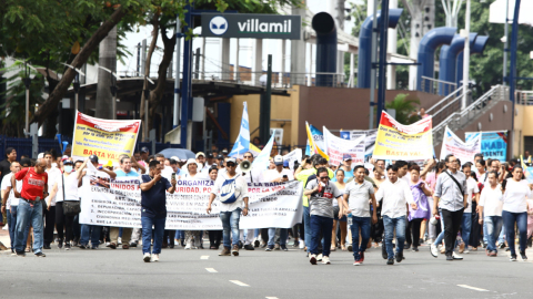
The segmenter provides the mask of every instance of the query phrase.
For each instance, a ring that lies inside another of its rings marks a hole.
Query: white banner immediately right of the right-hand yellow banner
[[[442,138],[441,159],[444,159],[446,155],[454,155],[463,165],[466,162],[474,163],[474,155],[480,152],[481,134],[469,142],[463,142],[446,126]]]

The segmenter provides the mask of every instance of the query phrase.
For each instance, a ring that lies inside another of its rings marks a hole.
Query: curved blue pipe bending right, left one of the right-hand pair
[[[418,56],[420,65],[416,68],[416,89],[419,91],[430,91],[430,86],[422,90],[422,76],[433,78],[435,50],[440,45],[450,44],[456,30],[452,27],[439,27],[428,32],[420,41]]]

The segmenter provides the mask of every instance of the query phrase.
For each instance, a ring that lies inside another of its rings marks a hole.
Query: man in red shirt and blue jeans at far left
[[[19,193],[13,189],[14,196],[20,198],[17,208],[17,234],[14,249],[17,256],[26,257],[26,229],[31,223],[33,227],[33,254],[37,257],[46,257],[42,252],[42,212],[43,199],[48,196],[48,174],[44,172],[47,162],[38,158],[34,167],[27,167],[11,177],[11,186],[17,186],[16,181],[22,181],[22,189]]]

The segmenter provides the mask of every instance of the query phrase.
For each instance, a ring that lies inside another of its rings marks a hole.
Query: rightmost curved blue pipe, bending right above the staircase
[[[474,48],[475,39],[477,38],[477,33],[471,32],[470,33],[470,49]],[[462,53],[464,50],[464,38],[456,34],[450,47],[442,47],[441,48],[441,55],[439,59],[439,80],[454,82],[455,81],[455,62],[457,59],[457,54]],[[460,66],[457,66],[460,68]],[[454,91],[451,85],[445,85],[443,83],[439,83],[439,95],[449,95]]]

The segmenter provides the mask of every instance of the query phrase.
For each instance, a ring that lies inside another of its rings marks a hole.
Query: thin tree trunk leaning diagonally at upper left
[[[94,32],[89,38],[89,40],[81,49],[80,53],[76,55],[76,59],[72,61],[71,65],[77,69],[83,66],[83,64],[87,62],[94,49],[97,49],[99,43],[108,35],[109,31],[111,31],[117,25],[117,23],[127,14],[127,12],[128,10],[124,7],[119,7],[113,12],[113,14],[110,16],[109,20],[103,22],[97,30],[97,32]],[[39,126],[41,126],[44,120],[52,115],[53,110],[58,106],[59,101],[61,101],[61,99],[63,97],[76,74],[77,73],[74,70],[70,68],[67,69],[63,76],[61,78],[61,81],[59,81],[53,92],[36,112],[30,123],[37,122]]]

